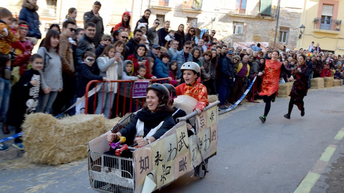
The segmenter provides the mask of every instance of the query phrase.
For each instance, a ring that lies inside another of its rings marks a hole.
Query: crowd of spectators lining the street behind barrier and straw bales
[[[174,86],[178,86],[184,82],[180,68],[188,61],[200,66],[201,77],[197,81],[204,84],[208,95],[218,95],[220,109],[223,110],[241,97],[260,66],[265,64],[265,60],[271,59],[273,50],[259,43],[249,47],[229,47],[223,41],[217,41],[215,30],[185,28],[184,24],[171,30],[170,24],[173,21],[165,21],[163,27],[158,29],[158,19],[149,26],[149,9],[144,11],[134,29],[129,25],[130,13],[124,12],[121,22],[112,28],[111,35],[107,35],[104,34],[103,19],[99,15],[101,3],[96,1],[92,10],[84,14],[83,29],[76,26],[77,9],[70,8],[62,29],[53,24],[37,54],[31,56],[36,41],[34,39],[41,38],[37,9],[36,0],[27,0],[20,11],[19,20],[4,14],[6,11],[0,13],[0,20],[5,21],[3,23],[12,31],[10,34],[17,35],[19,39],[13,39],[9,45],[13,48],[10,54],[0,54],[0,121],[5,134],[9,134],[8,125],[15,126],[16,133],[21,131],[23,118],[19,122],[12,120],[15,108],[24,109],[24,114],[42,112],[59,115],[84,96],[86,85],[91,80],[103,80],[106,83],[98,84],[101,88],[97,99],[89,98],[97,100],[97,103],[93,106],[94,103],[90,102],[88,113],[92,113],[94,108],[96,114],[115,117],[123,115],[122,109],[124,113],[136,111],[142,102],[132,100],[130,104],[131,84],[110,80],[167,78]],[[1,39],[2,42],[6,40]],[[305,50],[289,50],[283,45],[279,49],[279,61],[293,74],[297,56],[305,54],[311,70],[310,79],[331,76],[342,78],[340,71],[343,70],[343,57],[322,52],[319,43],[317,46],[313,44]],[[11,60],[10,78],[6,76],[8,60]],[[42,67],[36,67],[38,63]],[[25,73],[30,73],[29,78]],[[28,81],[20,81],[20,77]],[[281,73],[280,83],[287,79],[288,76]],[[260,83],[261,79],[258,78],[258,90]],[[31,96],[30,89],[37,85],[39,92],[33,98],[30,97],[32,104],[19,103],[18,100],[26,100],[27,97],[18,99],[14,93]],[[23,86],[29,90],[18,90]],[[134,105],[135,102],[137,105]],[[18,107],[18,104],[24,105]],[[8,112],[8,109],[12,110]],[[116,114],[115,109],[120,109],[120,113]],[[84,110],[85,101],[65,113],[74,115],[85,113]],[[21,141],[17,141],[14,146],[24,149]],[[3,144],[0,144],[1,148],[6,150]]]

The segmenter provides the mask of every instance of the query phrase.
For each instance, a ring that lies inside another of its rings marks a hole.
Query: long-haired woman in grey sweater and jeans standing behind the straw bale
[[[37,54],[43,57],[43,68],[41,72],[41,88],[36,112],[50,113],[51,107],[57,97],[57,93],[63,89],[62,63],[58,52],[60,34],[55,30],[49,30],[46,34],[42,47]]]

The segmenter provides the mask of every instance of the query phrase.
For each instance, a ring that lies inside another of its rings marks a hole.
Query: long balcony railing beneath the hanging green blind
[[[271,9],[271,11],[269,10]],[[231,14],[238,14],[238,15],[250,15],[250,16],[276,16],[276,10],[275,6],[269,7],[268,11],[265,9],[260,9],[260,3],[258,3],[254,8],[252,9],[230,9],[229,13]],[[264,13],[260,13],[260,11],[264,11]]]

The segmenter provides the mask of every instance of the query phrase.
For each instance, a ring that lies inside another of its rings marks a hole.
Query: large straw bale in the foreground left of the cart
[[[22,125],[25,156],[34,163],[59,165],[87,157],[87,142],[110,130],[120,118],[75,115],[61,120],[50,114],[26,116]]]

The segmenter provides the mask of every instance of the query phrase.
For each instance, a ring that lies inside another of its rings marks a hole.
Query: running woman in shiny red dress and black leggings
[[[288,77],[290,77],[288,81],[294,79],[291,73],[286,69],[286,67],[284,67],[284,65],[277,60],[278,56],[278,50],[273,50],[271,59],[266,60],[265,64],[261,65],[259,68],[258,76],[264,75],[264,79],[261,85],[261,92],[259,93],[259,95],[263,97],[263,100],[265,102],[264,115],[259,116],[259,119],[262,123],[265,123],[266,121],[266,116],[270,111],[271,102],[275,101],[281,70],[285,72]]]

